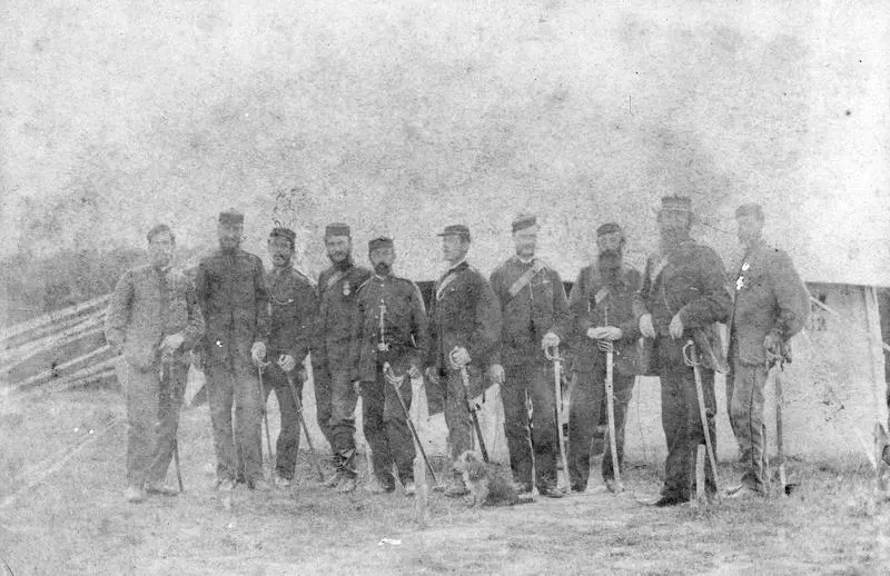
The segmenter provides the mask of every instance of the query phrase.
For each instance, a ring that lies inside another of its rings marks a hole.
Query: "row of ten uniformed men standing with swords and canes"
[[[406,409],[411,379],[425,377],[445,400],[452,460],[473,447],[467,399],[497,384],[518,490],[536,487],[544,497],[562,497],[550,361],[561,345],[572,350],[575,379],[567,475],[571,489],[584,491],[605,389],[602,345],[609,342],[616,358],[612,380],[619,468],[635,376],[655,374],[669,454],[654,504],[681,504],[693,490],[694,455],[705,437],[686,342],[694,341],[701,358],[708,433],[715,440],[714,370],[728,367],[714,322],[730,328],[728,403],[746,467],[741,486],[730,495],[764,495],[763,388],[770,367],[789,359],[788,340],[803,326],[808,295],[788,256],[761,240],[764,216],[758,205],[736,210],[745,256],[732,286],[714,250],[690,237],[693,220],[689,198],[662,198],[659,249],[643,274],[623,260],[622,228],[600,226],[599,256],[581,270],[568,297],[560,275],[535,257],[534,216],[513,221],[516,252],[490,279],[466,260],[469,229],[446,226],[438,236],[447,270],[435,284],[428,314],[417,286],[394,274],[396,251],[389,238],[370,240],[372,269],[366,269],[353,259],[349,227],[327,226],[332,266],[314,285],[291,265],[293,230],[271,230],[273,268],[264,270],[257,256],[240,248],[244,216],[228,210],[219,216],[219,249],[200,261],[192,285],[171,268],[172,230],[156,226],[147,235],[150,264],[122,276],[107,315],[108,342],[123,356],[126,497],[139,501],[146,494],[177,493],[164,479],[176,450],[190,350],[198,352],[207,375],[220,491],[239,483],[271,489],[261,456],[261,419],[271,390],[281,416],[271,484],[286,487],[293,480],[300,366],[312,352],[317,419],[336,468],[327,485],[344,493],[356,488],[354,413],[360,394],[363,431],[377,480],[372,491],[394,491],[397,476],[405,494],[414,494],[415,447]],[[603,458],[602,475],[613,488],[611,458]],[[710,466],[705,484],[713,495]],[[453,476],[445,491],[461,496],[465,487]]]

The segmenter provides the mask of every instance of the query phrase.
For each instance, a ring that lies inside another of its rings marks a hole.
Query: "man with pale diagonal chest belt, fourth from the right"
[[[522,215],[513,221],[516,255],[492,272],[492,288],[501,305],[503,327],[500,354],[492,376],[503,381],[504,431],[510,449],[513,479],[524,491],[532,490],[532,447],[538,493],[560,498],[556,459],[556,394],[551,361],[544,355],[563,340],[568,328],[568,301],[556,270],[535,258],[537,219]],[[530,444],[526,395],[533,405],[533,437]]]

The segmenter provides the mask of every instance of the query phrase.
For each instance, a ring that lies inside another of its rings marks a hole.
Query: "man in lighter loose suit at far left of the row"
[[[127,401],[127,501],[146,493],[175,496],[164,484],[176,449],[190,350],[204,334],[195,288],[170,268],[176,237],[167,225],[146,235],[150,264],[118,281],[106,315],[106,339],[123,355],[118,374]]]

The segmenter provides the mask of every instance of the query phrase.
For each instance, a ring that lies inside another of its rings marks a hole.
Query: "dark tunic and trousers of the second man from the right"
[[[655,359],[661,379],[662,426],[668,440],[668,460],[662,496],[689,500],[695,478],[695,450],[704,444],[693,369],[683,359],[683,346],[695,339],[696,330],[725,321],[731,308],[723,262],[706,246],[686,240],[669,254],[656,254],[646,261],[643,286],[634,299],[639,318],[652,314],[657,334]],[[670,336],[674,315],[683,321],[683,337]],[[704,350],[701,350],[704,352]],[[714,416],[714,373],[700,367],[711,443],[716,450]],[[705,466],[706,489],[716,489],[710,464]]]

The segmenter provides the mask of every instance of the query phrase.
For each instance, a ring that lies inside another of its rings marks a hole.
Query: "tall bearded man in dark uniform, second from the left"
[[[266,356],[269,298],[263,260],[241,250],[244,215],[219,215],[219,250],[198,265],[196,290],[207,322],[204,357],[214,428],[217,489],[248,487],[269,490],[263,477],[261,405],[257,369]],[[231,406],[235,405],[233,423]]]

